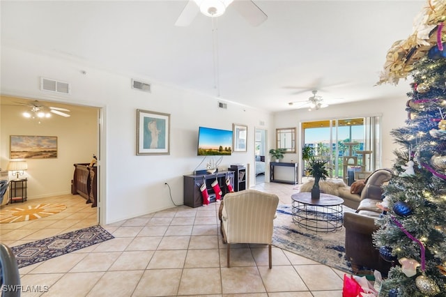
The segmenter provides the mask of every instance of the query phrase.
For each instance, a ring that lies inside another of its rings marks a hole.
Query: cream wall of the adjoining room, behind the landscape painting
[[[70,107],[70,117],[53,114],[38,123],[22,116],[25,109],[22,105],[4,105],[1,109],[0,167],[6,169],[10,160],[10,135],[55,136],[57,158],[26,159],[28,170],[22,176],[28,178],[26,194],[28,199],[69,194],[73,164],[89,163],[93,153],[98,154],[98,110]]]

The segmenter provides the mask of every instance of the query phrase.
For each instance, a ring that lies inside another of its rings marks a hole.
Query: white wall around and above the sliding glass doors
[[[379,86],[377,86],[379,87]],[[400,87],[401,88],[401,87]],[[410,87],[408,86],[408,90]],[[325,109],[314,110],[309,112],[307,109],[296,109],[290,112],[282,112],[275,114],[275,128],[295,127],[298,131],[298,139],[301,137],[299,123],[304,121],[318,121],[325,119],[350,119],[362,116],[381,116],[381,136],[382,136],[382,152],[381,167],[392,167],[395,156],[393,151],[399,146],[394,144],[394,139],[390,135],[390,131],[406,125],[407,119],[406,93],[401,92],[401,97],[386,100],[367,100],[362,102],[353,102],[342,105],[332,105]],[[286,153],[284,161],[298,160],[298,152],[296,154]]]

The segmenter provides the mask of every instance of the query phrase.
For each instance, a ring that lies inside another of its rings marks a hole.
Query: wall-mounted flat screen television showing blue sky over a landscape
[[[231,155],[232,131],[200,127],[198,155]]]

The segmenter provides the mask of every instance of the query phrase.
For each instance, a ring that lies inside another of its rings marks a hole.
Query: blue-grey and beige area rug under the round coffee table
[[[353,211],[344,206],[345,211]],[[293,222],[291,206],[279,204],[274,220],[272,245],[318,263],[353,273],[345,259],[345,229],[334,232],[307,231]]]

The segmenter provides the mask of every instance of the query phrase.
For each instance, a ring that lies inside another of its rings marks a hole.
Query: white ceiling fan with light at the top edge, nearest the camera
[[[251,0],[189,0],[175,25],[189,26],[199,11],[208,17],[219,17],[231,3],[231,7],[253,26],[259,26],[268,19],[268,16]]]

